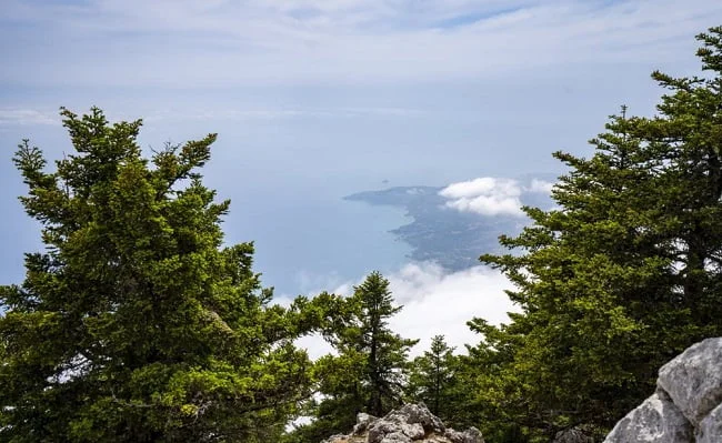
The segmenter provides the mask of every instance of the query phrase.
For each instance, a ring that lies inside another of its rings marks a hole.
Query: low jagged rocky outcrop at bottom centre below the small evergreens
[[[407,404],[382,419],[361,413],[353,432],[333,435],[323,443],[484,443],[481,432],[471,427],[464,432],[444,426],[425,405]]]

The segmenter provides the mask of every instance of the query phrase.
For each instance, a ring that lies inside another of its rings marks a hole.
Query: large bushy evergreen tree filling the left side
[[[53,172],[28,141],[14,157],[47,249],[0,289],[0,440],[279,434],[310,386],[292,340],[320,314],[270,305],[252,244],[222,246],[229,201],[198,172],[215,134],[149,162],[140,120],[61,114],[77,153]]]

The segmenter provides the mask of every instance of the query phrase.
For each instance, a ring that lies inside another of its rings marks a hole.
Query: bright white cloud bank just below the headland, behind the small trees
[[[478,316],[501,324],[509,321],[508,312],[518,311],[504,293],[512,288],[509,280],[488,266],[448,272],[433,263],[410,263],[385,276],[395,303],[403,305],[390,319],[391,329],[403,338],[421,340],[412,356],[427,351],[434,335],[444,335],[447,343],[463,352],[464,344],[479,342],[467,326],[469,320]],[[333,292],[348,295],[359,283],[344,283]],[[313,359],[331,352],[318,336],[303,338],[297,344]]]

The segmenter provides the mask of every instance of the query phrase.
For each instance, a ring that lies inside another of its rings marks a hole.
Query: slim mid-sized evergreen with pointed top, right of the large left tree
[[[401,306],[393,305],[389,281],[372,272],[354,286],[329,336],[338,355],[315,364],[320,401],[311,407],[313,422],[301,426],[291,441],[315,442],[333,433],[348,432],[359,412],[382,416],[402,402],[409,349],[418,340],[402,339],[388,320]]]

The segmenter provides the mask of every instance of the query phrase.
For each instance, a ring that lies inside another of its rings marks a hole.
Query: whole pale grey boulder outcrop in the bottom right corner
[[[722,338],[696,343],[666,363],[656,386],[604,443],[722,442]]]

